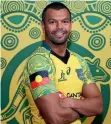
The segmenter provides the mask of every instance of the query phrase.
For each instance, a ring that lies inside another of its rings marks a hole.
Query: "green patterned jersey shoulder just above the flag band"
[[[31,56],[27,59],[26,68],[29,75],[35,73],[36,71],[42,70],[55,70],[53,62],[50,58],[50,51],[44,47],[39,47]]]

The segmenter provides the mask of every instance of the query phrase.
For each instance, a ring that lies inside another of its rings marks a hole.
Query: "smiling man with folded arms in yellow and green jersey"
[[[33,124],[80,124],[102,112],[102,97],[86,61],[67,47],[71,13],[51,3],[42,14],[45,41],[28,59],[24,87]],[[67,98],[69,97],[69,98]]]

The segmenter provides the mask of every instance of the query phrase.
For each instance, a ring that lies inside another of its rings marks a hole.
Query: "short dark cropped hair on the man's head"
[[[44,10],[43,10],[43,12],[42,12],[42,21],[43,21],[43,22],[45,21],[45,14],[46,14],[46,11],[47,11],[48,9],[60,10],[60,9],[64,9],[64,8],[67,9],[67,11],[69,12],[69,14],[70,14],[70,21],[71,21],[71,12],[70,12],[69,8],[67,8],[63,3],[60,3],[60,2],[53,2],[53,3],[47,5],[47,6],[44,8]]]

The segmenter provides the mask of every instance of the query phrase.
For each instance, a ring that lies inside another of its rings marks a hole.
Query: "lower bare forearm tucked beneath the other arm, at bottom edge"
[[[42,116],[47,124],[70,124],[80,118],[79,114],[73,109],[63,107],[56,108],[56,112],[50,110]]]

